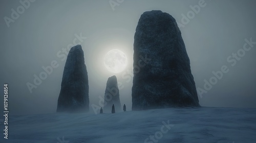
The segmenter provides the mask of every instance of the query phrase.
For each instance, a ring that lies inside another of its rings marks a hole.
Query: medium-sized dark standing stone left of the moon
[[[63,111],[89,111],[88,74],[81,45],[71,48],[63,71],[57,112]]]

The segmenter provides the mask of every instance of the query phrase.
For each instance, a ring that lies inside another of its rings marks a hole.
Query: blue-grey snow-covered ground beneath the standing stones
[[[2,117],[1,117],[2,118]],[[256,108],[166,108],[9,116],[0,142],[256,142]]]

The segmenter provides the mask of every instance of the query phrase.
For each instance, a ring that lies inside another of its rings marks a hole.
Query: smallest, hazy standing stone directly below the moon
[[[113,104],[115,105],[116,111],[121,111],[121,103],[116,76],[110,77],[106,82],[106,89],[104,94],[104,112],[110,113]]]

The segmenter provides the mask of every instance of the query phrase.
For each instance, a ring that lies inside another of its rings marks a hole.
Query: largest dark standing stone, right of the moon
[[[141,15],[133,66],[132,110],[200,106],[181,32],[168,13]]]

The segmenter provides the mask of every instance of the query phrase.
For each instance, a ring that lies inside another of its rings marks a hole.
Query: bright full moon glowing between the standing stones
[[[127,57],[118,49],[111,50],[104,57],[104,65],[110,72],[120,73],[127,65]]]

